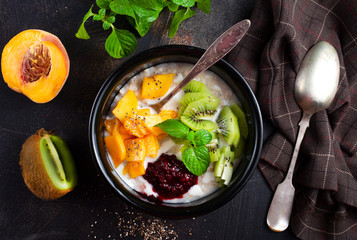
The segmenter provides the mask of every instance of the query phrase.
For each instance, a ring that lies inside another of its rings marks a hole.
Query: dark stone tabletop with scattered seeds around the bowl
[[[0,239],[295,239],[291,230],[275,233],[265,219],[272,191],[257,169],[243,190],[203,216],[164,219],[143,213],[121,199],[97,170],[90,153],[88,118],[94,98],[125,59],[104,50],[109,35],[88,23],[90,40],[75,33],[93,1],[1,0],[0,47],[26,29],[57,35],[70,60],[69,78],[51,102],[36,104],[0,81]],[[173,15],[162,12],[135,53],[165,44],[207,48],[224,30],[249,18],[254,0],[212,0],[211,14],[198,12],[168,38]],[[55,201],[35,197],[24,184],[19,153],[40,128],[55,129],[70,146],[79,171],[75,190]],[[167,237],[167,238],[166,238]]]

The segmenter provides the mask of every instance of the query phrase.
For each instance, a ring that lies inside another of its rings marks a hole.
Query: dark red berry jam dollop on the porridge
[[[197,184],[198,177],[190,173],[175,155],[162,154],[149,163],[144,178],[159,194],[159,200],[180,198]]]

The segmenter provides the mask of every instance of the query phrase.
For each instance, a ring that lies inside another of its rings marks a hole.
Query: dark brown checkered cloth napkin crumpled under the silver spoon
[[[340,57],[337,95],[313,115],[294,173],[291,227],[302,239],[357,239],[357,0],[258,0],[229,61],[276,127],[259,168],[273,190],[286,174],[302,111],[294,83],[308,49],[330,42]]]

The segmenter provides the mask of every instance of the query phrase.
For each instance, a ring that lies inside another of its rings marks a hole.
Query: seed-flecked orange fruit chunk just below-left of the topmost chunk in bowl
[[[138,99],[136,98],[135,92],[129,90],[122,99],[119,100],[115,108],[113,109],[113,114],[123,122],[124,118],[131,115],[136,111],[138,107]]]

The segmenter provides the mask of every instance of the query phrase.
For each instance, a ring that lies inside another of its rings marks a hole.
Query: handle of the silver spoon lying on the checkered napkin
[[[295,169],[296,159],[299,154],[301,142],[305,136],[306,129],[309,127],[309,122],[312,114],[303,113],[299,122],[299,133],[296,139],[294,153],[291,158],[288,173],[285,180],[280,183],[275,190],[273,200],[270,204],[267,224],[273,231],[281,232],[289,226],[291,210],[294,202],[295,188],[292,184],[293,173]]]

